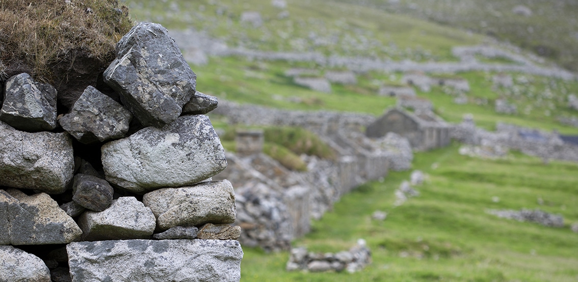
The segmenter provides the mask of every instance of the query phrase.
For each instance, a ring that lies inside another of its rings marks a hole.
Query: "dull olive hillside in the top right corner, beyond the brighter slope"
[[[388,12],[461,27],[512,42],[549,57],[560,65],[578,70],[578,3],[573,0],[338,0],[379,7]],[[529,7],[529,17],[513,8]]]

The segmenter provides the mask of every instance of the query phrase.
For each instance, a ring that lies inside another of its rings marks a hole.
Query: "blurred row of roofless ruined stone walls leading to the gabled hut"
[[[212,115],[229,124],[245,126],[299,126],[313,131],[338,153],[337,160],[302,156],[306,172],[289,171],[255,149],[262,135],[239,133],[246,148],[227,152],[229,166],[213,179],[229,179],[235,186],[240,242],[266,250],[290,248],[291,239],[310,230],[310,220],[321,216],[344,194],[364,182],[386,177],[388,170],[407,170],[413,159],[406,138],[390,133],[367,138],[362,129],[375,117],[343,112],[286,111],[219,101]],[[243,137],[243,138],[244,138]],[[258,146],[257,146],[258,147]]]

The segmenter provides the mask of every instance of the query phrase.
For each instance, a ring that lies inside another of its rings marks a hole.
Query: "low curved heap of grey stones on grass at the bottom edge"
[[[286,269],[288,271],[303,270],[307,272],[341,272],[360,271],[371,264],[371,251],[365,240],[359,239],[357,245],[349,251],[339,253],[310,253],[305,247],[291,249]]]

